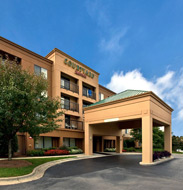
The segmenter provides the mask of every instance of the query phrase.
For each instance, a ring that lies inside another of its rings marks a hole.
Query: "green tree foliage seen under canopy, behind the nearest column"
[[[135,141],[142,143],[142,129],[132,129],[130,134],[133,136]],[[163,148],[164,147],[164,132],[158,127],[153,128],[153,147]]]

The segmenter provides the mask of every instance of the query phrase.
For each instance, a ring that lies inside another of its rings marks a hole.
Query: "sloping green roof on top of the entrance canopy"
[[[120,100],[120,99],[128,98],[128,97],[131,97],[131,96],[136,96],[136,95],[143,94],[143,93],[146,93],[146,92],[148,92],[148,91],[143,91],[143,90],[125,90],[123,92],[120,92],[118,94],[110,96],[110,97],[108,97],[108,98],[106,98],[104,100],[101,100],[99,102],[91,104],[88,107],[104,104],[104,103],[107,103],[107,102],[113,102],[115,100]]]

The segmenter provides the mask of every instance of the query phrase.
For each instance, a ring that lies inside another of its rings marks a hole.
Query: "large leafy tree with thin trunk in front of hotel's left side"
[[[59,127],[60,101],[46,97],[48,82],[15,63],[0,64],[0,133],[8,141],[8,160],[17,132],[36,138]]]

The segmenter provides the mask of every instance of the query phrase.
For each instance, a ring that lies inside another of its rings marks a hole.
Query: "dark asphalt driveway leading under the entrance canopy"
[[[183,155],[156,166],[140,166],[141,155],[107,156],[49,168],[40,180],[1,186],[0,190],[182,190]]]

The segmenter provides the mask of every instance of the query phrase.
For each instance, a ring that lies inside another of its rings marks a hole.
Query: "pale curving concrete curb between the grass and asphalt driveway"
[[[66,159],[47,162],[47,163],[44,163],[44,164],[39,165],[36,168],[34,168],[34,170],[30,174],[18,176],[18,177],[0,178],[0,186],[2,186],[2,185],[14,185],[14,184],[25,183],[25,182],[40,179],[41,177],[43,177],[45,171],[48,168],[55,166],[57,164],[61,164],[64,162],[70,162],[70,161],[76,161],[76,160],[104,157],[104,156],[107,156],[107,155],[92,155],[92,156],[84,156],[83,155],[83,156],[78,156],[77,158],[66,158]]]

